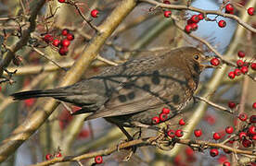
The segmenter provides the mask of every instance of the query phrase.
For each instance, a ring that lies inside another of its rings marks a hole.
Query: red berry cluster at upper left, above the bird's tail
[[[58,47],[58,53],[60,55],[66,55],[69,52],[70,41],[74,40],[74,35],[70,33],[70,30],[64,29],[61,31],[62,37],[66,37],[65,39],[58,40],[54,39],[54,37],[50,34],[45,34],[44,40],[47,43],[52,43],[53,46]]]

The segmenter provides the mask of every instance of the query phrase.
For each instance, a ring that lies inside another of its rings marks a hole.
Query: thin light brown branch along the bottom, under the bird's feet
[[[95,152],[89,152],[89,153],[85,153],[78,156],[67,156],[67,157],[55,158],[52,160],[45,160],[43,162],[33,164],[31,166],[45,166],[45,165],[50,165],[58,162],[79,161],[79,160],[94,158],[96,156],[107,156],[115,151],[118,151],[119,149],[132,148],[134,146],[135,147],[159,146],[161,143],[163,143],[164,145],[167,145],[166,148],[168,147],[172,148],[173,144],[175,143],[184,144],[194,149],[200,149],[200,150],[203,150],[206,148],[223,148],[236,154],[250,155],[251,158],[256,158],[256,154],[253,153],[252,150],[250,151],[250,150],[232,148],[224,145],[223,143],[215,143],[215,142],[209,142],[204,140],[191,140],[191,139],[178,139],[178,138],[170,140],[169,138],[164,136],[164,134],[160,134],[159,136],[135,139],[132,141],[121,143],[119,145],[115,145],[110,148],[98,150]]]

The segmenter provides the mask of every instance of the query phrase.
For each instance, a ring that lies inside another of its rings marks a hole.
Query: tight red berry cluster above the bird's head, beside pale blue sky
[[[185,31],[190,33],[193,30],[198,30],[198,22],[204,18],[203,14],[193,15],[186,21]]]

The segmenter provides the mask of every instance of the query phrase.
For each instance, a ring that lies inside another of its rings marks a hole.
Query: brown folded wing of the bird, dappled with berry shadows
[[[172,76],[171,76],[172,73]],[[182,70],[175,67],[148,69],[129,75],[111,94],[105,108],[86,119],[138,113],[166,105],[176,109],[185,95],[187,85]]]

